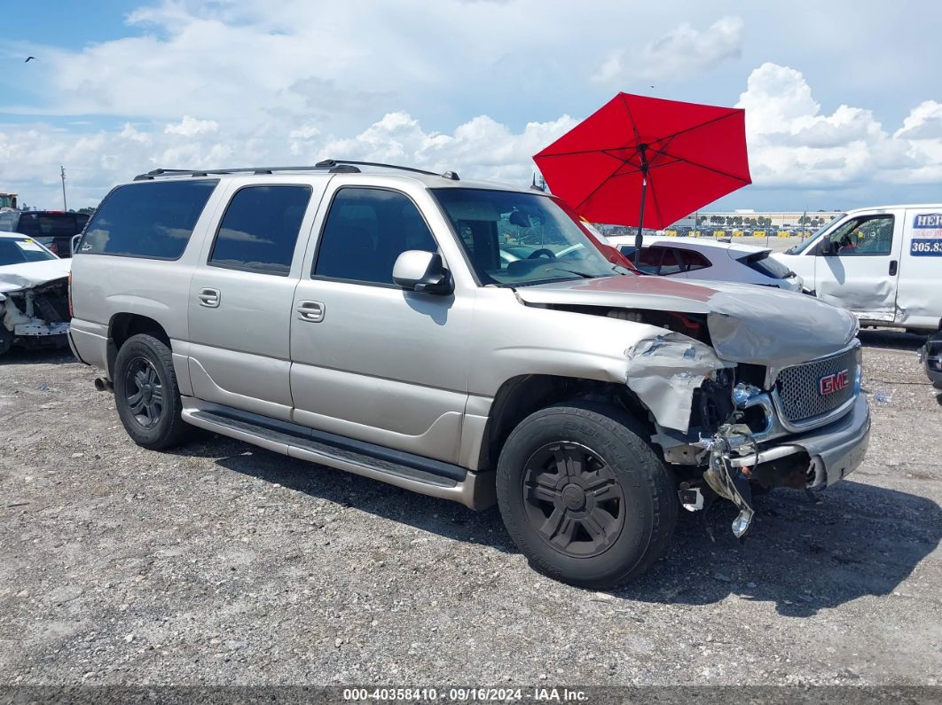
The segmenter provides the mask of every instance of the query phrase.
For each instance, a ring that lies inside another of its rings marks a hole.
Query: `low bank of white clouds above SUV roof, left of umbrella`
[[[218,124],[187,116],[179,123],[132,124],[75,136],[48,124],[0,126],[0,184],[18,183],[26,203],[57,205],[58,165],[67,167],[69,205],[95,205],[116,183],[152,168],[225,168],[333,157],[453,169],[464,178],[526,184],[531,155],[577,123],[569,116],[528,122],[514,132],[487,116],[450,133],[424,128],[406,112],[388,113],[352,136],[323,136],[313,125]],[[292,158],[288,158],[288,157]]]

